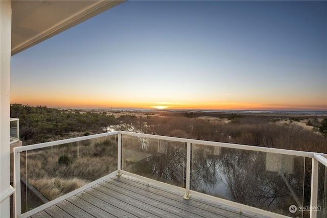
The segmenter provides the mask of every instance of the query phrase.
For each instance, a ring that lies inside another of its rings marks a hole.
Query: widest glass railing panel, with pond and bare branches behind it
[[[306,216],[291,206],[306,201],[303,181],[305,176],[310,180],[308,175],[304,157],[192,144],[191,190],[233,202]]]

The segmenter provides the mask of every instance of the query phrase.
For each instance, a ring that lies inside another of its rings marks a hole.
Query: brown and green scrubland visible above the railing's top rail
[[[306,124],[316,127],[309,131],[296,125],[303,119],[296,116],[269,118],[235,113],[215,114],[220,120],[228,120],[227,123],[197,118],[201,115],[196,112],[172,112],[161,113],[160,116],[152,113],[144,117],[134,114],[115,117],[106,112],[19,104],[11,106],[11,117],[19,118],[23,144],[103,133],[106,127],[114,126],[116,130],[327,153],[327,141],[323,137],[327,136],[327,118],[320,118],[320,122],[316,116],[308,119]],[[286,119],[290,120],[288,124],[279,124]],[[321,134],[317,134],[318,129]]]

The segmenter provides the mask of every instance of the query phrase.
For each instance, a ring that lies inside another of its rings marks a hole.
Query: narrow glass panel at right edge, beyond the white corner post
[[[327,217],[327,167],[319,163],[318,171],[318,202],[317,208],[312,208],[317,211],[318,218]]]

